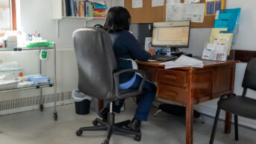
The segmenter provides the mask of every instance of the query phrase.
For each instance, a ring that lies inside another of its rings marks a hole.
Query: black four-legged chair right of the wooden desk
[[[246,66],[246,73],[243,77],[243,94],[237,96],[236,94],[224,94],[220,97],[218,102],[218,108],[216,111],[216,117],[213,124],[213,131],[210,137],[210,144],[213,143],[214,136],[216,133],[216,127],[219,120],[220,110],[227,111],[234,114],[234,130],[235,140],[238,141],[238,118],[246,117],[249,119],[256,120],[256,99],[246,97],[247,89],[256,91],[256,58],[251,59]],[[232,97],[231,97],[232,96]]]

